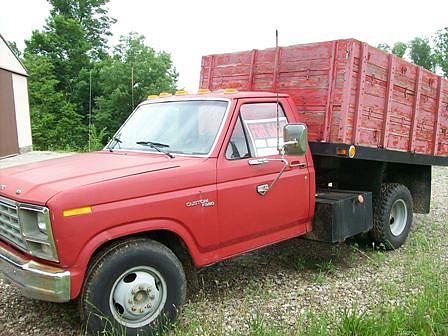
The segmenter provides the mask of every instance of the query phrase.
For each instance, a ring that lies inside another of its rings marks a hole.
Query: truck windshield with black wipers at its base
[[[141,105],[115,135],[121,150],[207,155],[212,150],[228,103],[184,100]],[[112,140],[113,143],[113,140]]]

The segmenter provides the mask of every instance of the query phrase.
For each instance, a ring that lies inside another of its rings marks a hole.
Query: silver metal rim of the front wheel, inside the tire
[[[114,318],[131,328],[145,326],[160,314],[167,295],[166,282],[152,267],[134,267],[115,281],[109,304]]]

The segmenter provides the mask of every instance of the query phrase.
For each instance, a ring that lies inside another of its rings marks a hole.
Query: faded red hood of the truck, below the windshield
[[[0,170],[0,195],[45,205],[62,191],[150,172],[176,169],[198,158],[133,152],[94,152]],[[200,159],[199,159],[200,160]]]

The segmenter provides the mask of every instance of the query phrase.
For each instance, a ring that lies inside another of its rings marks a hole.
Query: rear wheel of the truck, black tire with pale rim
[[[412,224],[413,202],[409,189],[398,183],[384,183],[375,203],[373,240],[389,250],[399,248]]]

